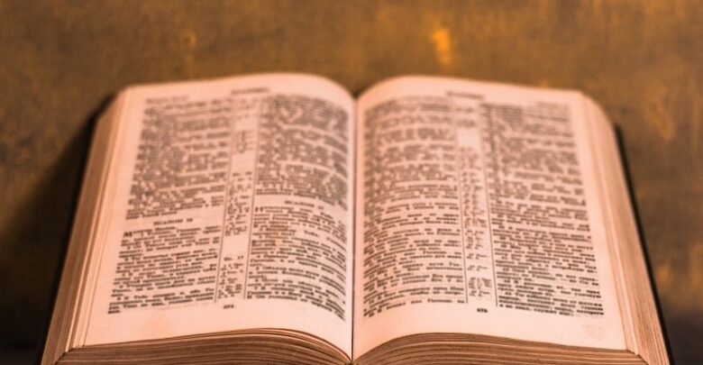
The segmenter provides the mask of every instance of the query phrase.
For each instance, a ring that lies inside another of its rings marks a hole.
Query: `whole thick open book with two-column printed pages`
[[[667,364],[576,91],[265,74],[98,122],[42,364]]]

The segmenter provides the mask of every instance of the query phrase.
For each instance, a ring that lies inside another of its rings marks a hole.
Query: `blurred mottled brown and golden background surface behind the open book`
[[[703,2],[0,1],[0,364],[35,360],[91,121],[135,83],[303,71],[578,88],[620,129],[676,364],[703,363]]]

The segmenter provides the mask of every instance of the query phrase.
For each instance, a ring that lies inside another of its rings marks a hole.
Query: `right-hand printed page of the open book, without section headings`
[[[625,349],[582,97],[420,77],[361,96],[354,358],[417,333]]]

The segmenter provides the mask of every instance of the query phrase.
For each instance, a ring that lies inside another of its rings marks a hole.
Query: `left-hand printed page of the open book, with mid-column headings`
[[[271,74],[127,99],[81,342],[279,328],[350,354],[352,97]]]

